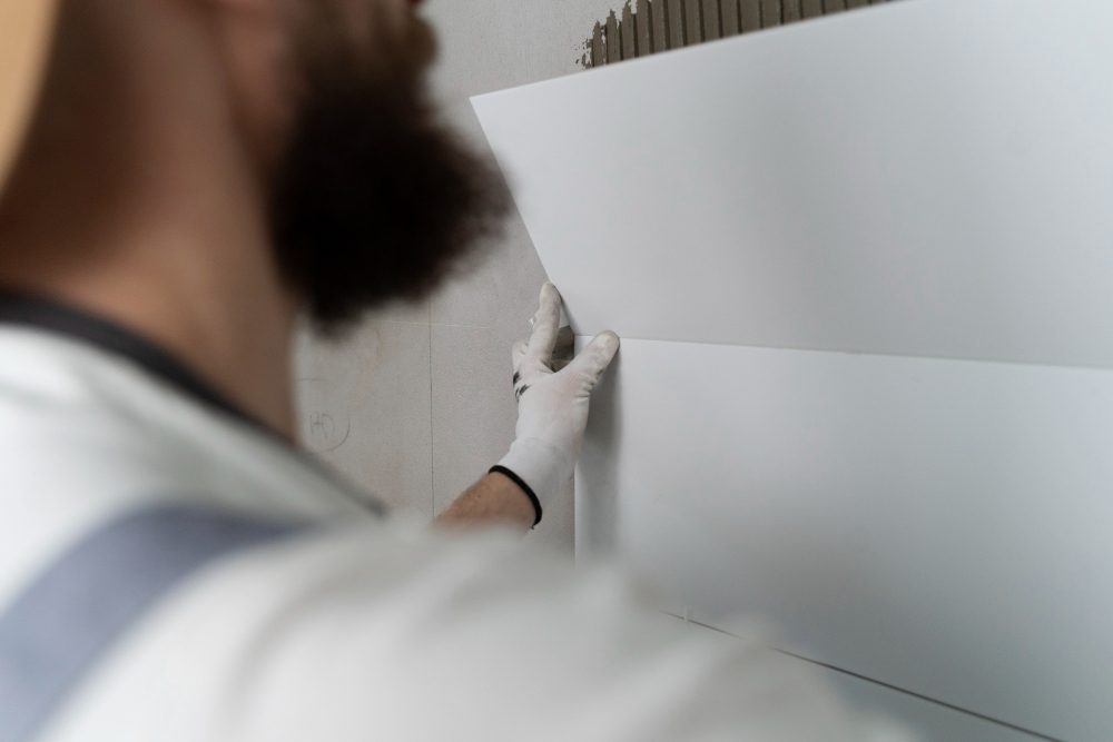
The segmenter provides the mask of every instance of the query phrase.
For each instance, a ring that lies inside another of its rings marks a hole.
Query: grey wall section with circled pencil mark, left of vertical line
[[[427,316],[427,315],[426,315]],[[429,325],[362,324],[339,340],[301,336],[305,445],[395,513],[432,518]]]

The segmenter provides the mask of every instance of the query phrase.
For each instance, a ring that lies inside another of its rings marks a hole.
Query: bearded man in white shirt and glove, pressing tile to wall
[[[554,373],[554,287],[442,527],[294,445],[295,319],[424,296],[505,207],[415,4],[0,0],[0,741],[878,739],[515,543],[619,345]]]

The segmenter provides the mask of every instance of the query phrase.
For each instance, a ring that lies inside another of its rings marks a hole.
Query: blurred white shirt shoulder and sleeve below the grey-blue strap
[[[640,595],[510,534],[306,532],[178,591],[46,739],[878,739],[757,636]]]

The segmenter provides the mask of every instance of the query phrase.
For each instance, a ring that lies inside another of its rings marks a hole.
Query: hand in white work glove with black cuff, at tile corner
[[[589,394],[618,352],[619,336],[600,333],[554,373],[551,359],[560,325],[560,294],[550,283],[541,287],[541,308],[533,323],[529,342],[513,349],[518,437],[491,471],[512,474],[511,478],[525,485],[540,521],[544,506],[572,477],[588,426]]]

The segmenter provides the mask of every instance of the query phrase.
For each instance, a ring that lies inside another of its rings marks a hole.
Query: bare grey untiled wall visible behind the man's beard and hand
[[[614,0],[429,0],[441,40],[434,89],[489,152],[470,96],[580,71]],[[415,306],[375,311],[348,337],[303,333],[298,399],[308,446],[398,514],[431,520],[514,437],[510,348],[528,337],[545,271],[521,217],[467,275]],[[530,535],[571,554],[571,486]]]

